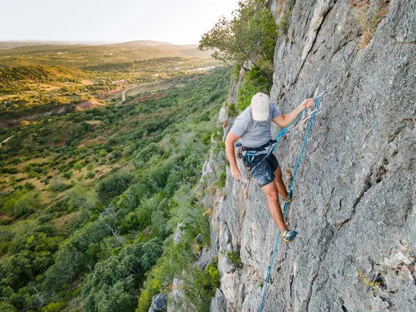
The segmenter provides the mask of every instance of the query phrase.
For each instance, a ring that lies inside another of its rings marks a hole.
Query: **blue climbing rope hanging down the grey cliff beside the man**
[[[304,142],[302,144],[302,148],[300,149],[299,157],[297,157],[297,162],[296,162],[295,169],[293,170],[293,177],[292,177],[292,181],[291,181],[291,187],[289,187],[288,198],[290,198],[292,196],[292,187],[293,187],[293,182],[295,181],[295,176],[296,176],[297,168],[299,167],[300,159],[302,157],[302,153],[304,152],[304,148],[305,148],[305,145],[306,145],[306,141],[307,141],[307,139],[309,137],[309,132],[311,132],[313,119],[315,119],[316,111],[318,110],[318,107],[320,105],[320,98],[325,93],[327,93],[327,92],[324,91],[320,95],[318,95],[315,98],[313,98],[315,100],[315,110],[313,110],[313,112],[311,112],[311,114],[308,117],[306,117],[306,119],[308,119],[309,117],[311,117],[311,121],[309,122],[309,127],[308,127],[308,130],[306,131],[306,136],[305,136]],[[297,116],[297,118],[290,125],[288,125],[286,128],[282,129],[281,132],[279,132],[279,134],[277,135],[277,137],[275,139],[277,141],[277,143],[276,143],[275,147],[273,148],[273,151],[275,150],[275,148],[276,148],[277,144],[279,143],[279,141],[283,137],[285,137],[288,134],[288,132],[290,132],[288,130],[288,128],[291,125],[293,125],[293,123],[295,123],[296,121],[298,121],[300,119],[300,117],[305,112],[305,110],[306,110],[306,108],[304,108],[304,110],[302,110],[302,112],[299,114],[299,116]],[[303,121],[302,121],[302,123],[303,123]],[[287,208],[288,208],[288,202],[285,202],[285,204],[284,204],[284,211],[283,211],[283,217],[286,215],[286,209]],[[276,254],[276,251],[277,251],[277,245],[279,243],[279,239],[280,239],[280,231],[279,231],[279,234],[277,234],[277,240],[276,240],[276,244],[275,244],[275,250],[273,250],[272,260],[270,261],[270,266],[269,266],[269,270],[268,270],[267,278],[266,278],[266,284],[264,285],[263,296],[261,297],[259,312],[261,312],[261,309],[263,308],[264,297],[266,296],[267,285],[268,285],[268,281],[270,279],[270,273],[272,272],[272,265],[273,265],[273,261],[275,260],[275,254]]]

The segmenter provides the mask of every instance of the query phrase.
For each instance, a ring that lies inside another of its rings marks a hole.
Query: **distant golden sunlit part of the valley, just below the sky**
[[[23,46],[0,50],[0,114],[114,98],[130,85],[218,65],[181,46]],[[64,110],[64,108],[62,108]],[[0,123],[4,118],[0,116]]]

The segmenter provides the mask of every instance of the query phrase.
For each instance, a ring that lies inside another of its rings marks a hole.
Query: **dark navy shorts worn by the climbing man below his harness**
[[[273,153],[270,153],[268,157],[266,155],[254,155],[252,162],[248,162],[247,157],[242,157],[242,159],[245,168],[250,171],[260,187],[264,187],[275,180],[275,171],[279,166],[279,162],[277,162],[277,158]]]

